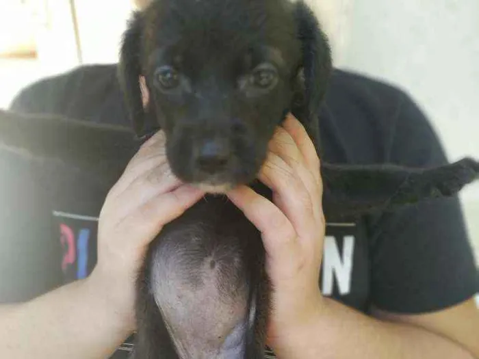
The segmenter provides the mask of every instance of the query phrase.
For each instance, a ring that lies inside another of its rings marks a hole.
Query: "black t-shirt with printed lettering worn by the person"
[[[85,66],[39,81],[16,97],[12,109],[129,125],[113,65]],[[322,161],[412,167],[447,162],[422,111],[389,84],[335,70],[318,118]],[[0,302],[26,300],[88,276],[107,193],[73,165],[46,170],[14,157],[0,156],[0,228],[10,246],[0,254],[0,273],[15,278],[15,283],[1,278]],[[371,306],[427,313],[463,302],[479,289],[458,198],[354,223],[329,222],[321,273],[324,295],[363,313]],[[115,358],[128,349],[122,347]]]

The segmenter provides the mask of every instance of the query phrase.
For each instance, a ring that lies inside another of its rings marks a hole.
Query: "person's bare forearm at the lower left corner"
[[[12,359],[103,359],[128,336],[98,286],[81,280],[0,310],[0,345]]]

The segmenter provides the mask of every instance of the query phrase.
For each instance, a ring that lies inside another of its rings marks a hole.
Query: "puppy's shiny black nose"
[[[213,174],[222,170],[228,163],[230,150],[228,144],[220,140],[209,140],[200,147],[196,163],[200,170]]]

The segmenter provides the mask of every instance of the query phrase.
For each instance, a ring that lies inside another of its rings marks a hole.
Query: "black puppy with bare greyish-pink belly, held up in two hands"
[[[187,183],[211,193],[248,183],[270,198],[255,178],[288,112],[320,153],[315,116],[331,55],[302,1],[153,1],[133,17],[120,55],[135,132],[148,137],[163,129],[170,167]],[[458,178],[478,170],[469,160],[457,166],[428,175],[350,168],[345,176],[344,167],[325,164],[326,184],[341,189],[325,186],[325,202],[349,215],[388,200],[452,194]],[[354,200],[345,190],[358,186],[371,191]],[[135,358],[261,358],[269,286],[259,232],[233,204],[209,196],[151,244],[138,279]]]

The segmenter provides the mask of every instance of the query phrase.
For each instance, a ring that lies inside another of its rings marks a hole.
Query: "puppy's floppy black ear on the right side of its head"
[[[301,112],[304,119],[301,120],[306,122],[303,124],[307,127],[314,128],[317,124],[313,122],[316,122],[333,70],[331,47],[309,6],[302,0],[295,6],[298,38],[302,44],[302,68],[298,73],[300,92],[303,92],[299,101],[303,107]]]

